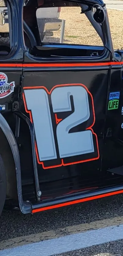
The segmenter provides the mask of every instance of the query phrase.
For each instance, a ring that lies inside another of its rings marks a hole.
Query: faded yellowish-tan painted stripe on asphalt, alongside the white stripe
[[[0,242],[0,250],[22,246],[24,244],[36,243],[42,240],[55,239],[62,236],[71,234],[78,234],[94,229],[102,229],[110,226],[118,226],[123,224],[123,216],[114,217],[110,219],[103,219],[100,221],[94,221],[91,223],[85,223],[80,225],[68,226],[62,229],[49,230],[37,234],[31,234],[28,236],[20,236],[9,240]]]

